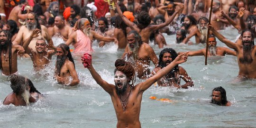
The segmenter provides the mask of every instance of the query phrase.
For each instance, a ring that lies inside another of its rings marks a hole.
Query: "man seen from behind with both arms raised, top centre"
[[[142,37],[142,41],[147,44],[149,42],[149,37],[152,32],[169,25],[174,20],[175,16],[178,14],[178,12],[181,9],[183,9],[183,4],[176,6],[176,10],[175,10],[174,14],[170,18],[168,18],[164,23],[159,24],[159,25],[149,25],[151,22],[149,14],[145,11],[142,11],[137,16],[138,24],[135,24],[123,15],[123,13],[117,3],[117,0],[113,0],[113,1],[114,1],[115,5],[117,5],[117,12],[118,12],[119,16],[123,19],[125,24],[128,27],[131,27],[132,30],[137,31],[140,34],[140,36]]]

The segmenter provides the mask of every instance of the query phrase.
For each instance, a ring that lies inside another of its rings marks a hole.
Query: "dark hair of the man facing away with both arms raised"
[[[140,29],[143,29],[150,24],[151,19],[149,14],[146,11],[141,11],[140,13],[138,13],[137,21],[138,21],[137,27],[139,27]]]

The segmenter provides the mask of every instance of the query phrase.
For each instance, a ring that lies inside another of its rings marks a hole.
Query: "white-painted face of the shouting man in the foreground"
[[[116,84],[117,88],[119,90],[122,90],[124,88],[124,86],[127,86],[128,78],[121,71],[117,71],[115,73],[114,81],[115,81],[115,84]]]

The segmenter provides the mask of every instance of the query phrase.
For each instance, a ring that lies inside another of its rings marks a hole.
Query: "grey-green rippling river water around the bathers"
[[[221,31],[235,41],[237,31]],[[177,45],[175,35],[167,36],[167,47],[177,52],[198,50],[204,45]],[[194,38],[191,39],[194,42]],[[217,40],[217,46],[225,46]],[[158,56],[162,49],[150,44]],[[114,63],[123,50],[113,43],[100,48],[93,44],[93,65],[107,82],[114,83]],[[30,58],[18,59],[20,75],[32,80],[45,98],[29,106],[2,105],[12,91],[5,76],[0,77],[0,128],[115,128],[117,119],[110,96],[83,68],[80,56],[74,56],[80,84],[64,87],[53,79],[55,56],[52,66],[42,73],[34,73]],[[189,89],[174,89],[152,85],[143,94],[140,112],[142,128],[219,128],[256,127],[256,80],[233,82],[238,75],[236,56],[210,57],[204,65],[203,56],[189,57],[180,64],[194,81]],[[151,69],[153,69],[153,64]],[[136,81],[141,82],[141,80]],[[213,88],[222,86],[227,91],[231,107],[210,104]],[[171,102],[151,100],[149,97],[168,98]]]

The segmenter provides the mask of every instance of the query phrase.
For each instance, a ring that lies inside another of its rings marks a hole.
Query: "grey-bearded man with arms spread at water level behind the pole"
[[[212,35],[209,36],[208,39],[208,54],[207,56],[215,56],[215,55],[219,55],[219,56],[225,56],[227,55],[236,55],[235,51],[230,50],[227,47],[221,47],[221,46],[216,46],[217,42],[216,42],[216,38]],[[179,52],[179,54],[183,54],[183,52]],[[188,53],[189,56],[195,56],[195,55],[206,55],[206,51],[205,48],[200,49],[198,51],[190,51]]]

